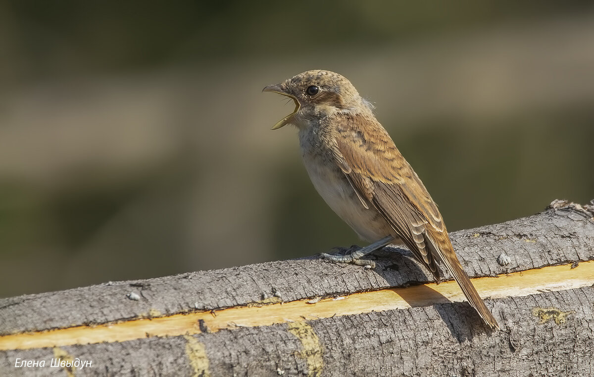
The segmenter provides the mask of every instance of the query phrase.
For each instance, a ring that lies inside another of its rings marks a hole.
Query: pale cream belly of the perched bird
[[[330,162],[324,164],[320,156],[304,153],[305,169],[311,182],[327,205],[340,216],[346,224],[366,241],[377,241],[389,235],[390,227],[371,203],[365,208],[355,190],[350,186],[345,174]]]

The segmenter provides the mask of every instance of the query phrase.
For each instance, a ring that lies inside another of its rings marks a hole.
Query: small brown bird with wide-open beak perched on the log
[[[272,129],[286,124],[298,128],[305,168],[316,190],[359,237],[373,242],[346,256],[323,256],[356,263],[387,244],[405,244],[437,280],[437,262],[443,262],[482,319],[499,328],[460,265],[437,205],[375,119],[374,106],[350,81],[314,70],[263,92],[293,99],[295,111]]]

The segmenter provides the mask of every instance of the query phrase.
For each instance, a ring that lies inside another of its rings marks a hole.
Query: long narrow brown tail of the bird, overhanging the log
[[[431,249],[431,253],[436,259],[441,260],[444,263],[448,271],[450,271],[450,274],[456,279],[464,296],[466,296],[466,300],[468,300],[470,305],[476,309],[479,316],[481,316],[485,323],[491,326],[491,328],[499,329],[497,319],[495,319],[491,311],[485,306],[485,301],[481,299],[475,286],[472,285],[468,275],[466,275],[462,265],[460,265],[460,261],[458,260],[456,253],[454,253],[454,248],[451,246],[450,238],[448,238],[447,233],[445,231],[443,233],[429,231],[426,234],[425,240],[428,241],[427,244],[429,245],[429,249]]]

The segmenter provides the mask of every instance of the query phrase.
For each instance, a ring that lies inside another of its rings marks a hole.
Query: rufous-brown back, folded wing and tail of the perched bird
[[[498,327],[460,265],[437,205],[379,122],[371,115],[342,118],[336,128],[334,155],[359,197],[368,200],[390,224],[392,235],[437,279],[436,262],[443,262],[479,315],[491,327]]]

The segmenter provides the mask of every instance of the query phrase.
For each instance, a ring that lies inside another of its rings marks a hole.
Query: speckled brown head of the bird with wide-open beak
[[[289,123],[300,127],[308,121],[340,112],[356,114],[371,111],[373,107],[359,96],[349,80],[331,71],[305,71],[283,83],[268,85],[262,91],[279,93],[295,102],[295,111],[278,121],[273,130]]]

